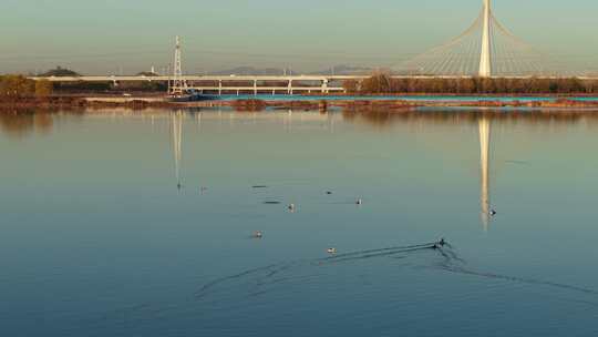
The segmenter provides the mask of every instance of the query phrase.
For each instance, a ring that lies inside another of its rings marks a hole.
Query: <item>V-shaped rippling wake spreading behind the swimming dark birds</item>
[[[423,263],[421,263],[421,259],[417,259],[416,264],[409,263],[399,266],[411,266],[415,269],[423,268],[463,276],[480,277],[482,279],[499,279],[508,283],[551,287],[584,295],[591,295],[591,297],[585,297],[584,299],[564,299],[580,305],[598,307],[598,297],[594,297],[598,296],[598,292],[595,289],[550,280],[477,270],[467,267],[467,262],[461,258],[451,245],[445,244],[444,246],[439,246],[437,243],[425,243],[419,245],[355,251],[327,257],[282,262],[251,268],[202,285],[197,288],[192,298],[187,298],[188,302],[173,303],[167,306],[156,306],[151,304],[126,306],[116,309],[115,312],[106,313],[102,317],[102,321],[122,320],[131,323],[136,319],[146,319],[147,317],[163,318],[164,315],[182,310],[183,307],[193,307],[193,303],[199,303],[202,307],[205,305],[231,305],[238,303],[238,300],[243,298],[255,299],[267,296],[271,292],[286,292],[289,288],[289,285],[306,285],[311,282],[322,282],[322,277],[331,276],[330,273],[327,274],[326,269],[322,269],[322,267],[326,266],[385,257],[404,261],[422,256],[425,252],[430,252],[433,255],[423,255],[425,256]],[[594,298],[597,300],[592,300]]]

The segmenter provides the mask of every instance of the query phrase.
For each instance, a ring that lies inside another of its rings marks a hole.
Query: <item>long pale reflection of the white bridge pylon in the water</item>
[[[482,224],[484,229],[488,229],[489,223],[489,145],[491,145],[491,121],[486,116],[480,118],[480,162],[481,162],[481,193],[480,203],[482,206]]]

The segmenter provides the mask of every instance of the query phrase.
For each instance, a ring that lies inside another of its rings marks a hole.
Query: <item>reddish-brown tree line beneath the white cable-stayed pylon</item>
[[[374,73],[358,81],[347,80],[343,88],[351,94],[444,93],[444,94],[594,94],[598,81],[577,78],[393,78]]]

